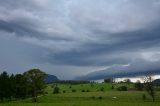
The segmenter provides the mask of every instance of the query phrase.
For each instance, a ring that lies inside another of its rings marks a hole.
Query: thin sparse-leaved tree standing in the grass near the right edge
[[[153,78],[151,75],[148,75],[144,77],[144,87],[148,94],[152,97],[152,101],[155,101],[155,90],[154,90],[154,85],[152,83]]]

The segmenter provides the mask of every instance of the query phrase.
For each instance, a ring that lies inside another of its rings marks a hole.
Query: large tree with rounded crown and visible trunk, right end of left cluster
[[[46,74],[39,69],[31,69],[24,73],[29,88],[29,93],[32,95],[32,101],[37,102],[38,94],[43,92],[45,88],[44,79]]]

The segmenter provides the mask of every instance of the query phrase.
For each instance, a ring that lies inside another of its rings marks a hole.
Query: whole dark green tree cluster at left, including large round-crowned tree
[[[32,97],[37,101],[37,96],[43,94],[46,74],[40,69],[30,69],[23,74],[9,75],[6,71],[0,74],[0,101],[25,99]]]

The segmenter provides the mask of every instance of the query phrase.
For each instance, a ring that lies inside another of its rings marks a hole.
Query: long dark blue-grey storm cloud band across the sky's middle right
[[[128,52],[140,51],[152,47],[160,46],[160,28],[155,28],[150,31],[139,31],[130,33],[119,33],[115,44],[86,44],[85,50],[81,52],[71,51],[65,53],[54,54],[54,56],[47,61],[54,62],[56,64],[68,64],[68,65],[79,65],[79,66],[106,66],[112,64],[127,64],[131,61]],[[89,50],[88,50],[89,49]],[[110,55],[114,54],[115,57],[110,58]],[[120,54],[124,54],[123,56]],[[120,56],[117,56],[120,55]],[[98,56],[98,58],[97,58]],[[103,57],[99,57],[103,56]],[[128,57],[127,57],[128,56]],[[108,57],[104,59],[104,57]],[[96,61],[95,61],[96,60]]]

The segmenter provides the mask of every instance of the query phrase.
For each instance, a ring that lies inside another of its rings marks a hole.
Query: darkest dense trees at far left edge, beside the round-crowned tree
[[[11,100],[12,97],[24,99],[27,96],[27,80],[21,74],[9,76],[7,72],[0,75],[0,99]]]

